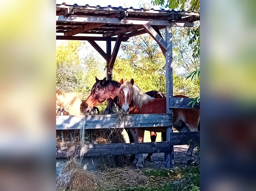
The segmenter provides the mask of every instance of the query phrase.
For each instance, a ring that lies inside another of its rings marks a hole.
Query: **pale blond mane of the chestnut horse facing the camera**
[[[138,86],[132,85],[130,82],[125,82],[120,86],[128,88],[129,91],[133,94],[133,106],[141,108],[144,104],[147,104],[150,101],[153,101],[154,98],[145,94]]]

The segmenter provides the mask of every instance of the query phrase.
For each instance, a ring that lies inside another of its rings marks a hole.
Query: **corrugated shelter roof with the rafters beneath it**
[[[100,5],[90,6],[88,4],[85,6],[78,6],[77,4],[67,5],[66,3],[56,4],[56,16],[62,18],[56,19],[56,33],[66,33],[67,35],[67,32],[69,31],[78,31],[81,29],[81,27],[91,24],[89,30],[80,30],[79,34],[103,34],[105,37],[110,36],[112,33],[114,34],[115,31],[118,32],[120,30],[122,31],[123,29],[125,30],[128,27],[130,28],[129,30],[125,31],[125,37],[146,33],[145,29],[143,28],[143,24],[139,24],[143,23],[141,21],[154,23],[157,25],[156,27],[158,29],[162,29],[165,28],[166,22],[168,23],[169,21],[176,23],[191,23],[200,19],[200,14],[194,11],[186,12],[184,10],[175,11],[165,9],[155,10],[153,8],[134,9],[133,7],[123,8],[121,6],[112,7],[111,5],[107,7],[101,7]],[[94,18],[96,18],[96,20]],[[118,19],[118,21],[121,20],[123,22],[115,23],[106,21],[111,19],[112,21],[113,19]],[[104,20],[105,23],[103,22]],[[154,21],[157,21],[157,23]],[[103,25],[98,24],[95,25],[95,28],[92,27],[92,23],[97,24],[100,22],[103,23]],[[108,35],[105,35],[107,33]],[[73,32],[69,32],[68,35],[70,34],[73,35]]]

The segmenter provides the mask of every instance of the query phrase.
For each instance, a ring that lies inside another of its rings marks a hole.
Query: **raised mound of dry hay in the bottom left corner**
[[[93,191],[102,187],[108,187],[93,172],[84,170],[78,159],[72,158],[57,176],[56,190],[62,191],[69,189],[70,191]]]

